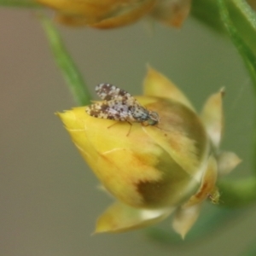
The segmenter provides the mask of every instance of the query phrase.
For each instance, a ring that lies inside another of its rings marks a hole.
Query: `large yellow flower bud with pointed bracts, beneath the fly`
[[[127,136],[127,122],[92,117],[84,107],[58,113],[84,160],[117,199],[98,219],[96,232],[141,228],[175,211],[173,228],[185,236],[201,202],[218,203],[218,173],[240,162],[218,150],[222,96],[223,90],[212,95],[200,117],[183,92],[149,68],[144,96],[136,98],[159,114],[157,125],[132,123]]]

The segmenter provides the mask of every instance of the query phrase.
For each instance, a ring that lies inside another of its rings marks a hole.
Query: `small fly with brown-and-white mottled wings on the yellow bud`
[[[96,94],[103,102],[96,102],[85,108],[86,113],[99,119],[113,119],[142,125],[156,125],[158,113],[150,111],[137,102],[130,93],[113,84],[96,85]]]

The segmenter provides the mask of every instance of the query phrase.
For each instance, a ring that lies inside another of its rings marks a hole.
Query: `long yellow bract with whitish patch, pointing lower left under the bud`
[[[172,209],[144,210],[114,203],[98,218],[96,233],[135,230],[160,222]]]

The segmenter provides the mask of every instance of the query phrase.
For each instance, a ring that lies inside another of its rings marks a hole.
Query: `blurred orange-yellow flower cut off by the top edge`
[[[56,11],[56,20],[69,26],[113,28],[151,15],[170,26],[181,26],[191,0],[36,0]]]

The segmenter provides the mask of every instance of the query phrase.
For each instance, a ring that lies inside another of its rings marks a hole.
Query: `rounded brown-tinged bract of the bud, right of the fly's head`
[[[208,147],[208,137],[201,119],[190,108],[168,99],[149,103],[146,107],[159,114],[158,126],[165,131],[156,134],[156,131],[150,130],[150,133],[153,135],[154,132],[153,136],[184,170],[190,174],[197,172]]]

